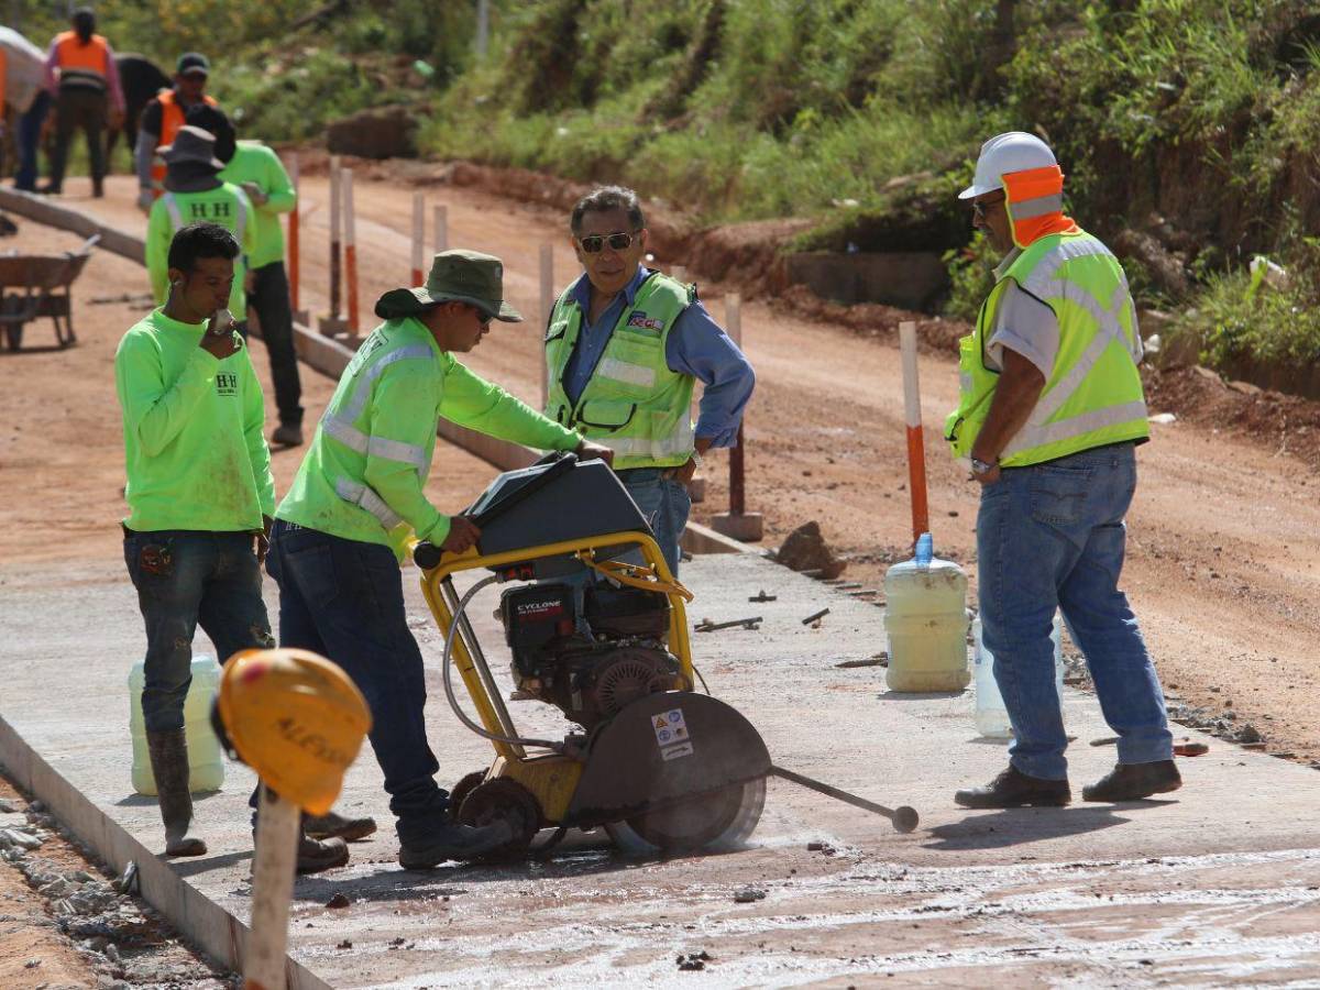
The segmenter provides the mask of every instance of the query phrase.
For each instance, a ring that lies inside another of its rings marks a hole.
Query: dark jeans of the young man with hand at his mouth
[[[147,731],[182,729],[198,623],[220,663],[240,649],[275,645],[252,533],[125,532],[124,564],[147,622]]]

